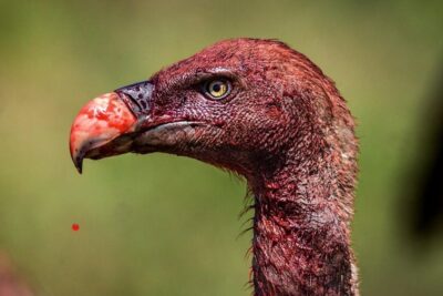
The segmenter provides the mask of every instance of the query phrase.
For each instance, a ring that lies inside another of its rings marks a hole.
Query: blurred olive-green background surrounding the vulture
[[[1,0],[0,253],[35,295],[250,295],[244,182],[164,154],[79,175],[68,135],[97,94],[220,39],[278,38],[359,122],[362,294],[443,295],[442,203],[420,200],[443,110],[442,3]]]

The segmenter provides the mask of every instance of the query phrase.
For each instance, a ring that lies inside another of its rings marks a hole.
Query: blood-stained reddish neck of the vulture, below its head
[[[261,167],[260,176],[249,178],[256,296],[358,295],[349,229],[352,170],[343,173],[349,167],[333,151],[316,150],[310,157],[287,156],[278,169]]]

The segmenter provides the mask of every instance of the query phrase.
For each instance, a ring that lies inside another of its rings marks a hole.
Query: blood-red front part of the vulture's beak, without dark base
[[[130,150],[136,118],[117,93],[102,94],[86,103],[71,127],[70,150],[82,173],[83,159],[102,159]]]

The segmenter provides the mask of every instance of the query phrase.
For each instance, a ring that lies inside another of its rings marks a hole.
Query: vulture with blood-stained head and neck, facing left
[[[193,157],[254,195],[254,295],[358,295],[354,120],[334,82],[278,40],[229,39],[86,103],[72,160]]]

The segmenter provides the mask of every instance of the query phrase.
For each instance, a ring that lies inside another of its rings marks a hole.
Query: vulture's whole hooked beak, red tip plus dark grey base
[[[83,159],[103,159],[131,151],[138,118],[150,111],[153,84],[141,82],[87,102],[70,136],[71,157],[79,173]]]

